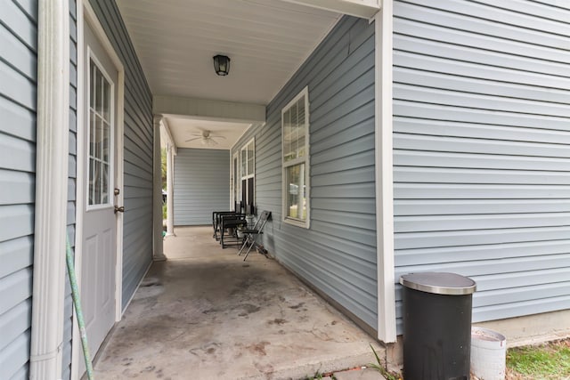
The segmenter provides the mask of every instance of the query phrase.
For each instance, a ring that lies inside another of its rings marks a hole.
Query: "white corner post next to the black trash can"
[[[393,178],[393,84],[392,0],[384,0],[375,16],[375,135],[376,135],[376,230],[378,268],[378,337],[396,340],[394,268],[394,178]]]

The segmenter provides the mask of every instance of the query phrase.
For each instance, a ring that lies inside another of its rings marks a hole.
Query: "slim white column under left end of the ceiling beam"
[[[162,116],[154,117],[154,140],[152,160],[152,260],[167,260],[162,245],[162,165],[160,155],[160,125]]]

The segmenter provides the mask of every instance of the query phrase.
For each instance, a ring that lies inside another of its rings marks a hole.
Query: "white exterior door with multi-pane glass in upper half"
[[[81,301],[94,356],[116,315],[118,70],[85,22]],[[79,182],[79,180],[78,180]],[[118,189],[119,190],[119,189]],[[119,190],[120,191],[120,190]]]

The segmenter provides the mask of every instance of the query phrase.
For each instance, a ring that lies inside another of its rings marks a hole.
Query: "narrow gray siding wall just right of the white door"
[[[90,0],[125,69],[122,305],[152,260],[152,96],[117,4]]]

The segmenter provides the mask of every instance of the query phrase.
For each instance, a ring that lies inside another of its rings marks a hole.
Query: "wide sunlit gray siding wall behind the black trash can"
[[[394,10],[396,280],[475,279],[474,321],[570,308],[570,8]]]

